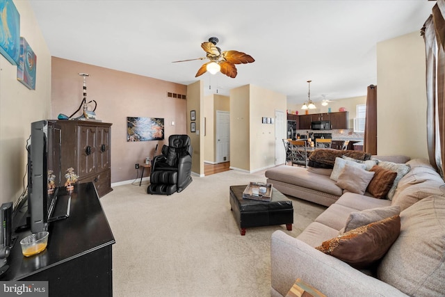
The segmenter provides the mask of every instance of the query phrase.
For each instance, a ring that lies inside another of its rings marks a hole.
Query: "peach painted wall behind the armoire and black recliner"
[[[83,99],[83,77],[79,72],[90,74],[86,79],[87,101],[97,102],[97,119],[113,124],[112,183],[140,177],[141,169],[136,170],[135,163],[152,157],[156,144],[160,154],[168,136],[187,134],[187,100],[167,97],[168,92],[186,95],[187,86],[56,57],[52,58],[51,118],[57,118],[59,113],[70,116],[79,108]],[[90,104],[88,110],[93,107]],[[127,117],[164,118],[165,140],[127,142]]]

